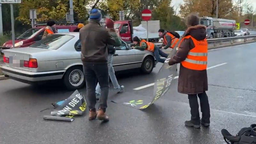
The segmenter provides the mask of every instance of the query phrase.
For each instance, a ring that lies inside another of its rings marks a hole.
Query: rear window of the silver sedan
[[[29,47],[57,50],[63,44],[66,44],[69,40],[71,40],[73,37],[75,36],[54,34],[52,36],[46,37],[45,39],[37,41],[35,44],[32,44]]]

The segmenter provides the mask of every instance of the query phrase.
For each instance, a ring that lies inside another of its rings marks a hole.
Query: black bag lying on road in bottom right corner
[[[256,124],[242,128],[236,136],[231,135],[226,129],[222,129],[221,134],[227,144],[256,144]]]

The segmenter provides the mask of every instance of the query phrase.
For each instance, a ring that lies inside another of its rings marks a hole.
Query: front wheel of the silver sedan
[[[152,56],[146,56],[141,64],[141,71],[150,74],[154,68],[155,60]]]

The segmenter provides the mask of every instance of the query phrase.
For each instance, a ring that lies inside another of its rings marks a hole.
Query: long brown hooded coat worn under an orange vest
[[[206,37],[206,27],[196,25],[186,30],[186,36],[190,35],[196,40],[203,40]],[[169,60],[169,65],[180,63],[187,58],[188,52],[195,47],[191,38],[184,39],[177,54]],[[192,70],[180,64],[180,75],[178,79],[178,92],[184,94],[197,94],[208,90],[207,71]]]

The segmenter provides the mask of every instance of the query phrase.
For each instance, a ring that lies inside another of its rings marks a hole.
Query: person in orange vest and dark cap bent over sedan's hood
[[[164,61],[168,57],[168,54],[161,51],[154,43],[147,42],[144,39],[139,39],[138,36],[133,37],[133,43],[131,44],[131,46],[133,49],[138,49],[141,51],[148,50],[150,52],[153,52],[157,62],[164,63]],[[164,59],[160,58],[160,56],[164,57]]]

